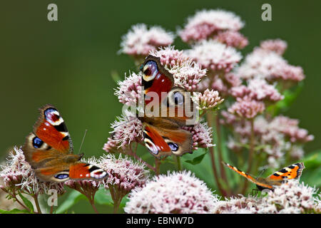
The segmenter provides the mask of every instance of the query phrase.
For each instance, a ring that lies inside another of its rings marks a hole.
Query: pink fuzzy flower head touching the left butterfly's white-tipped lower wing
[[[142,187],[148,180],[148,171],[141,162],[133,162],[128,157],[118,157],[108,154],[98,160],[98,165],[108,173],[108,178],[103,180],[106,188],[117,187],[125,194],[134,187]]]

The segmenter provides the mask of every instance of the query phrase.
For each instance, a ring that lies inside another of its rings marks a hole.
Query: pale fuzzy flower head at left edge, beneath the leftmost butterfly
[[[7,158],[7,165],[1,167],[0,177],[4,180],[6,190],[24,190],[30,194],[44,194],[48,190],[57,190],[63,194],[63,184],[54,182],[41,182],[34,174],[34,171],[26,162],[24,152],[18,147]]]

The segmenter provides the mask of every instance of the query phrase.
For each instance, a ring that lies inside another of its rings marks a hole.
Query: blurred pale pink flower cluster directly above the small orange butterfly
[[[228,140],[230,150],[240,152],[242,145],[250,141],[251,128],[248,120],[238,118],[223,111],[220,123],[233,129],[233,137]],[[301,159],[304,155],[302,146],[313,140],[307,130],[299,128],[298,120],[279,115],[267,120],[259,115],[254,119],[255,147],[261,147],[259,152],[267,155],[270,167],[279,167],[284,161],[285,154],[294,159]]]

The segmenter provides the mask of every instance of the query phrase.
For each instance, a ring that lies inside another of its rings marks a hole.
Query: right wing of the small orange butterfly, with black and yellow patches
[[[299,179],[302,175],[302,170],[305,168],[303,162],[298,162],[293,165],[282,168],[277,172],[273,172],[268,176],[269,180],[282,182],[282,180]]]

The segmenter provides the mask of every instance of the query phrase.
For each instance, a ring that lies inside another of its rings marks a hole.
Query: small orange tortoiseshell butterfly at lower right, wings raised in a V
[[[224,165],[229,167],[234,172],[237,172],[239,175],[245,177],[250,182],[255,183],[258,187],[258,190],[262,191],[265,189],[273,190],[275,185],[281,185],[282,183],[286,182],[286,180],[291,179],[299,179],[302,175],[302,170],[305,168],[303,162],[298,162],[288,167],[282,168],[277,172],[273,172],[270,176],[263,178],[263,177],[253,177],[252,175],[247,174],[239,170],[237,167],[229,165],[226,162],[223,162]]]

